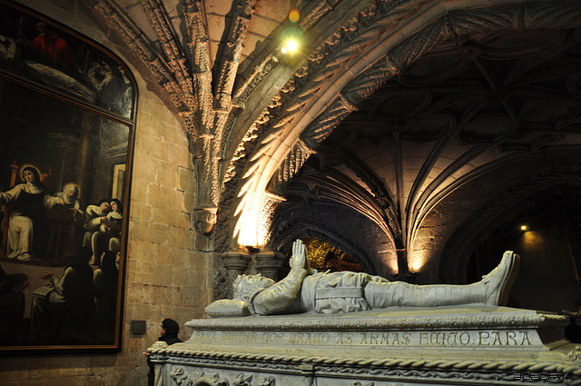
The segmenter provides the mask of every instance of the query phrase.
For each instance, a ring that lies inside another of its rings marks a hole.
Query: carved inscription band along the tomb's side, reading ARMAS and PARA
[[[372,347],[532,347],[540,344],[527,330],[399,332],[222,332],[196,331],[192,341],[228,344],[326,345]]]

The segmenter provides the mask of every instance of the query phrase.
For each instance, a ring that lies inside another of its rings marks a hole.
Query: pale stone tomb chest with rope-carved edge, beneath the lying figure
[[[149,351],[156,386],[581,384],[567,323],[496,306],[202,319]]]

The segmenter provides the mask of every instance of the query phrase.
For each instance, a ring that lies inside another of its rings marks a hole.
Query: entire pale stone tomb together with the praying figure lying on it
[[[150,349],[156,385],[581,383],[566,317],[504,307],[518,263],[505,252],[480,282],[414,285],[316,272],[298,240],[280,282],[239,276],[212,319],[186,323],[189,341]]]

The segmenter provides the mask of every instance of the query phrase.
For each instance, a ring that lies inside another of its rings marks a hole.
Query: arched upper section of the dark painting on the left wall
[[[43,18],[0,4],[0,62],[53,92],[130,117],[133,88],[123,66]]]

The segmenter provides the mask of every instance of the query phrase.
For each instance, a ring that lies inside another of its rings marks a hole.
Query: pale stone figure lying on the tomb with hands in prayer
[[[292,245],[291,272],[280,282],[241,275],[233,299],[206,307],[212,317],[300,312],[359,312],[393,306],[505,305],[518,271],[519,257],[505,252],[498,266],[480,282],[467,285],[416,285],[389,282],[361,272],[317,272],[310,268],[305,245]]]

